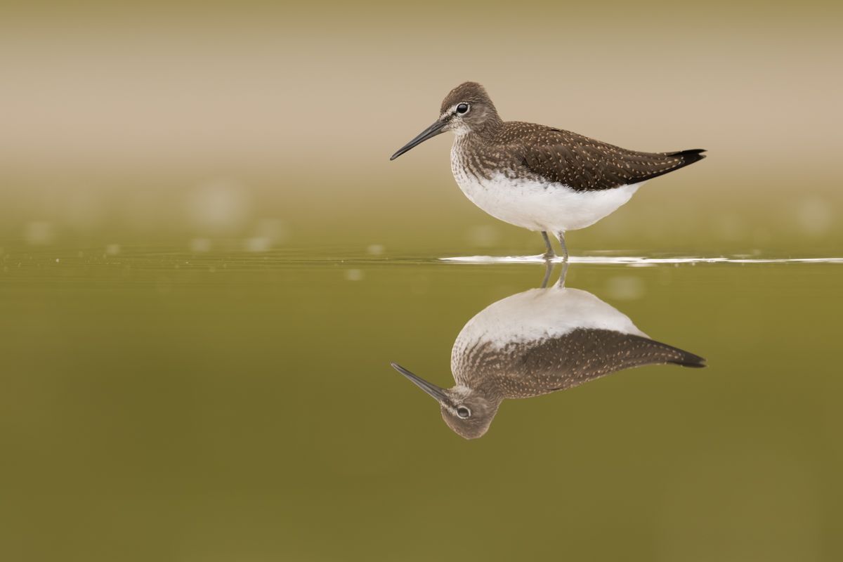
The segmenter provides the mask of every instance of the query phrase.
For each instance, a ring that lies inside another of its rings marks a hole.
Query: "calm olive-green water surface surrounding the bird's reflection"
[[[389,361],[449,386],[459,330],[544,268],[436,257],[6,247],[3,559],[843,558],[843,265],[575,263],[708,367],[465,441]]]

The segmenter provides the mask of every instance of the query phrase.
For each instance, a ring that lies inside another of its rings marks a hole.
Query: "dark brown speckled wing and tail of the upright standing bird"
[[[552,127],[509,122],[498,142],[520,169],[574,190],[608,190],[668,174],[702,158],[702,150],[641,153]]]

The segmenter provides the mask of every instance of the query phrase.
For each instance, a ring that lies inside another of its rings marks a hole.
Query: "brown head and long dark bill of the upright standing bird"
[[[456,135],[481,132],[497,125],[500,120],[495,105],[491,103],[489,94],[486,94],[486,88],[476,82],[461,83],[443,99],[438,120],[400,147],[389,159],[395,160],[412,147],[445,131],[454,131]]]

